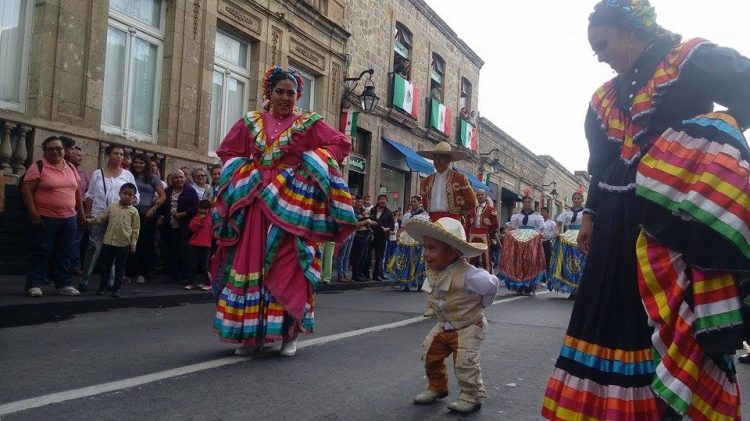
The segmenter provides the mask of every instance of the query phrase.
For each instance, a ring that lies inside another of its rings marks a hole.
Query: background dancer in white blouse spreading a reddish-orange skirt
[[[509,290],[531,295],[547,276],[547,261],[542,248],[541,229],[544,218],[531,207],[532,199],[524,196],[521,211],[511,216],[509,231],[503,238],[500,276]]]

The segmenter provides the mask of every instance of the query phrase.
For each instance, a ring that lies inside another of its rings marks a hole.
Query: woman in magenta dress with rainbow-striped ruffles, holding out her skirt
[[[291,356],[297,334],[313,328],[318,244],[345,238],[356,222],[339,174],[351,143],[320,115],[295,109],[296,72],[272,67],[262,86],[270,110],[247,113],[216,151],[224,168],[212,274],[224,287],[214,328],[242,344],[238,355],[281,339],[281,355]]]

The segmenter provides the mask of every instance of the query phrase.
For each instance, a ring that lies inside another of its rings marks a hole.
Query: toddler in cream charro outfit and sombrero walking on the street
[[[479,368],[479,348],[487,325],[484,307],[492,304],[498,281],[463,258],[478,256],[487,246],[467,242],[463,226],[453,218],[436,222],[412,219],[406,231],[424,244],[427,279],[422,290],[429,294],[429,305],[437,316],[437,324],[422,345],[427,390],[415,396],[414,403],[432,404],[448,396],[444,360],[453,354],[461,394],[448,409],[460,414],[476,412],[485,396]]]

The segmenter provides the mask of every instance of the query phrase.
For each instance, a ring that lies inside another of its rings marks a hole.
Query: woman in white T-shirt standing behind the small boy
[[[122,168],[125,149],[119,145],[109,145],[104,149],[107,156],[107,166],[99,168],[91,174],[89,188],[86,191],[86,200],[84,208],[86,216],[97,217],[104,212],[109,205],[120,200],[120,187],[125,183],[135,184],[133,174]],[[135,194],[135,204],[140,201],[140,194]],[[83,275],[78,283],[80,291],[86,291],[89,285],[89,278],[94,271],[99,254],[102,251],[102,241],[106,226],[96,225],[89,231],[89,245],[86,249],[86,258],[83,262]],[[102,268],[110,270],[110,268]],[[110,279],[114,278],[112,276]]]

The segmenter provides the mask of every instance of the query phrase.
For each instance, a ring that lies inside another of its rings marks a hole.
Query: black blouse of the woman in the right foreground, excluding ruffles
[[[670,41],[651,45],[626,73],[613,81],[616,105],[630,114],[633,98],[654,75],[657,66],[674,49]],[[740,127],[750,125],[750,60],[737,51],[706,43],[694,49],[685,60],[679,78],[662,88],[654,101],[654,112],[647,117],[646,134],[640,137],[645,153],[657,136],[680,120],[713,110],[714,103],[727,107]],[[607,139],[597,113],[589,107],[585,122],[589,144],[588,171],[591,175],[586,208],[596,212],[602,190],[631,192],[635,189],[635,175],[640,158],[625,162],[620,157],[619,142]]]

